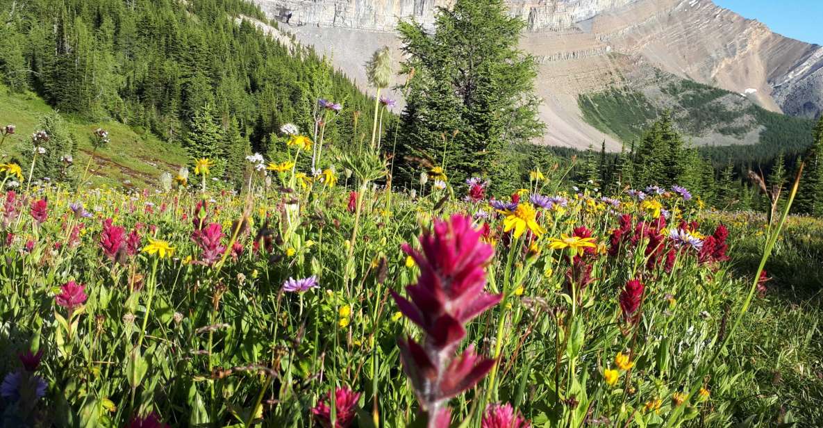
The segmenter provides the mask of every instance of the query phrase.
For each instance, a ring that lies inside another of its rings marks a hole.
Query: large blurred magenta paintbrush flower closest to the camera
[[[482,240],[482,231],[471,217],[456,215],[435,221],[433,232],[421,235],[421,251],[403,245],[421,270],[417,283],[407,286],[407,300],[392,292],[402,314],[425,332],[422,343],[411,338],[399,342],[403,368],[412,382],[421,406],[436,426],[449,398],[472,388],[495,365],[477,356],[473,347],[454,357],[466,336],[464,325],[491,306],[501,295],[484,291],[486,263],[494,255]]]

